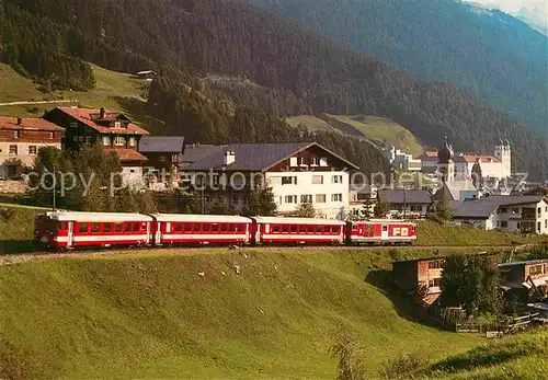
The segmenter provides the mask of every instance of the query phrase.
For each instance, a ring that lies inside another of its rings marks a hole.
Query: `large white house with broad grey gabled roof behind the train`
[[[192,151],[185,148],[183,161]],[[316,142],[209,146],[197,153],[183,164],[183,176],[203,188],[206,201],[242,209],[253,186],[269,185],[282,215],[310,203],[326,217],[341,218],[349,207],[349,171],[358,169]]]

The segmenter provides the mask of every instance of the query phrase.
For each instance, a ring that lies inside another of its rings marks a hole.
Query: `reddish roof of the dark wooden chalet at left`
[[[133,123],[127,124],[127,128],[116,128],[116,129],[114,129],[113,127],[101,125],[100,122],[113,125],[114,122],[118,120],[121,116],[125,117],[118,111],[105,110],[105,116],[103,118],[100,118],[99,110],[76,108],[76,107],[75,108],[57,107],[57,110],[66,113],[67,115],[72,116],[79,122],[85,124],[88,127],[93,128],[103,134],[116,133],[119,135],[149,135],[149,133],[146,129],[142,129],[141,127]]]

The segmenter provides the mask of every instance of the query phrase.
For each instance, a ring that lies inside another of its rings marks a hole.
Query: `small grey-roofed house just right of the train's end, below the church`
[[[421,218],[426,216],[432,205],[432,196],[423,189],[379,189],[378,203],[388,207],[390,215],[403,218]]]

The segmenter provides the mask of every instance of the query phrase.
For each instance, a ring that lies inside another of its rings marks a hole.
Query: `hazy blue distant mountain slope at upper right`
[[[400,67],[447,81],[548,135],[548,37],[498,10],[453,0],[255,0]]]

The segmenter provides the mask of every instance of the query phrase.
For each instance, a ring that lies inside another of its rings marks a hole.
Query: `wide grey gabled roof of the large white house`
[[[227,165],[229,170],[266,171],[273,165],[287,159],[289,156],[304,151],[310,147],[320,147],[327,153],[338,158],[351,169],[358,169],[352,162],[333,153],[316,142],[285,142],[285,143],[236,143],[212,149],[209,154],[191,163],[187,170],[209,170],[224,166],[225,152],[235,152],[235,162]]]

